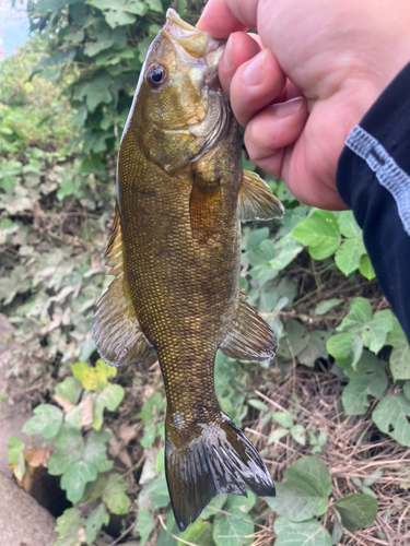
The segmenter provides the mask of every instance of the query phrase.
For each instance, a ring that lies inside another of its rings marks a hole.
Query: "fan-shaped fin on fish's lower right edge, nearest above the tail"
[[[278,348],[272,329],[242,296],[238,298],[235,319],[220,351],[237,360],[271,360]]]

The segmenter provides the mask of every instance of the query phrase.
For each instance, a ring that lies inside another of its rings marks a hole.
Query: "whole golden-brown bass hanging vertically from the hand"
[[[165,474],[179,531],[220,491],[276,494],[214,391],[216,351],[239,360],[274,357],[271,328],[239,290],[241,222],[284,212],[267,183],[243,170],[238,124],[218,78],[224,46],[169,9],[147,54],[117,161],[105,252],[116,278],[94,320],[109,365],[157,354]]]

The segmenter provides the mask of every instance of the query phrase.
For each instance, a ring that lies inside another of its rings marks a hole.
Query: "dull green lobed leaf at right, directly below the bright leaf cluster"
[[[345,415],[364,415],[370,406],[367,396],[382,399],[387,389],[385,364],[365,351],[356,369],[348,368],[344,375],[350,379],[342,392]]]

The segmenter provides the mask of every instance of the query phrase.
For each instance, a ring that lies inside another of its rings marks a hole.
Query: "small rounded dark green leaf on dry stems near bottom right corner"
[[[370,495],[348,495],[337,500],[333,507],[340,514],[341,524],[351,533],[370,527],[377,518],[377,502]]]

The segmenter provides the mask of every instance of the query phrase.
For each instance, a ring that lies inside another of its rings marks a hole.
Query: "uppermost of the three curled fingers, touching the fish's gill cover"
[[[219,68],[220,81],[227,96],[230,96],[231,82],[236,70],[259,51],[258,41],[253,39],[249,34],[242,32],[231,34]]]

